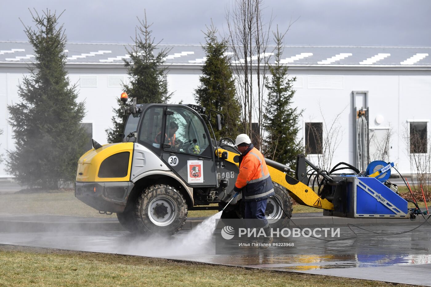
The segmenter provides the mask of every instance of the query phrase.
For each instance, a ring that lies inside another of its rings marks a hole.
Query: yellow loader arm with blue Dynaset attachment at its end
[[[218,156],[238,166],[238,153],[219,149]],[[418,214],[415,209],[408,209],[407,201],[397,193],[397,186],[388,180],[393,163],[371,162],[366,171],[360,172],[354,166],[340,162],[327,172],[303,154],[298,155],[295,171],[269,159],[265,162],[273,182],[284,187],[298,204],[324,209],[324,215],[411,218]],[[340,173],[342,169],[353,173]],[[293,172],[295,177],[289,175]]]

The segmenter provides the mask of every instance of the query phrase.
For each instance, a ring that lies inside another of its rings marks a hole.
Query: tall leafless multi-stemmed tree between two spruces
[[[265,110],[264,76],[269,56],[273,54],[267,52],[272,16],[269,22],[264,22],[262,4],[262,0],[235,0],[233,6],[226,9],[238,100],[243,106],[241,121],[244,132],[251,134],[257,140],[258,147],[262,143],[262,121]],[[253,83],[254,79],[256,83]],[[256,116],[259,125],[257,132],[252,128],[253,115]]]

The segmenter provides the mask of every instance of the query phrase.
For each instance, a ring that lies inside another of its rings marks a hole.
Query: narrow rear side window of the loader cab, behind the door
[[[162,141],[163,107],[153,106],[145,111],[141,122],[138,141],[159,149]]]

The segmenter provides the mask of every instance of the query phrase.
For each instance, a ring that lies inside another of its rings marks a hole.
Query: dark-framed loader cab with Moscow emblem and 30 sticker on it
[[[127,135],[136,131],[136,138]],[[143,104],[131,114],[123,141],[147,147],[190,186],[218,187],[215,151],[206,124],[189,106]],[[157,167],[154,167],[157,169]]]

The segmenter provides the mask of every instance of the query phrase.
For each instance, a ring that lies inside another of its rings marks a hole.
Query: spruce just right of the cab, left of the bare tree
[[[241,108],[236,99],[235,83],[227,56],[228,44],[225,40],[219,41],[216,33],[214,25],[207,27],[206,43],[203,46],[206,61],[199,78],[200,86],[195,90],[195,100],[206,108],[207,115],[210,109],[223,114],[225,124],[221,131],[216,129],[215,114],[211,115],[215,137],[219,140],[221,137],[237,136],[241,129]]]

